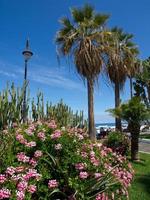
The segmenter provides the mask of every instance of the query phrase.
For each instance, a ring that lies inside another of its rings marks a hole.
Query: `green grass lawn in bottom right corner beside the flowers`
[[[150,154],[140,153],[140,163],[133,163],[135,170],[130,200],[150,200]]]

